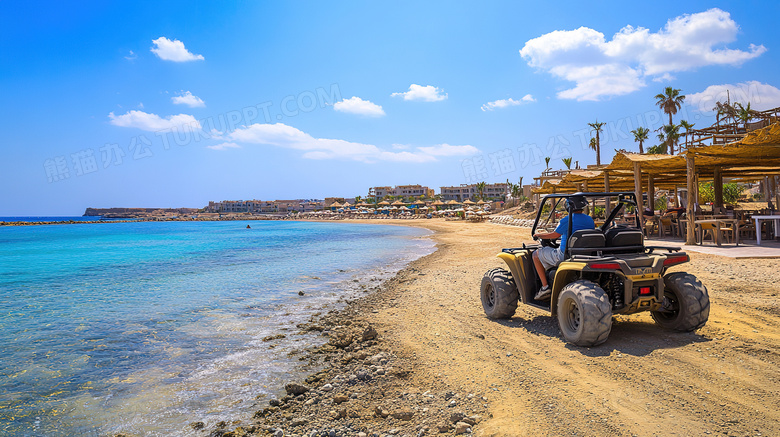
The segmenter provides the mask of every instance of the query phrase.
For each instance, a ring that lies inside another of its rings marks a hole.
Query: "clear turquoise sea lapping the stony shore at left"
[[[431,253],[427,235],[289,221],[0,227],[0,435],[190,435],[195,420],[249,419],[322,342],[295,325]]]

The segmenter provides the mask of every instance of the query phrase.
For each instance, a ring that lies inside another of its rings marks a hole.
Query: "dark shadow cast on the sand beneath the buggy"
[[[530,319],[513,317],[512,319],[494,320],[495,323],[509,328],[521,328],[526,331],[546,337],[565,341],[558,328],[558,320],[551,316],[534,316]],[[693,343],[711,341],[695,332],[676,332],[664,329],[655,323],[638,319],[612,319],[612,331],[609,339],[594,347],[580,347],[566,344],[566,348],[588,357],[605,357],[618,351],[626,355],[645,356],[659,349],[673,349]]]

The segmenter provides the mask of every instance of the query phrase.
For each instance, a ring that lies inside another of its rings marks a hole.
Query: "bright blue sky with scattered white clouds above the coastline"
[[[0,2],[0,216],[528,183],[666,86],[780,106],[776,2],[420,3]]]

